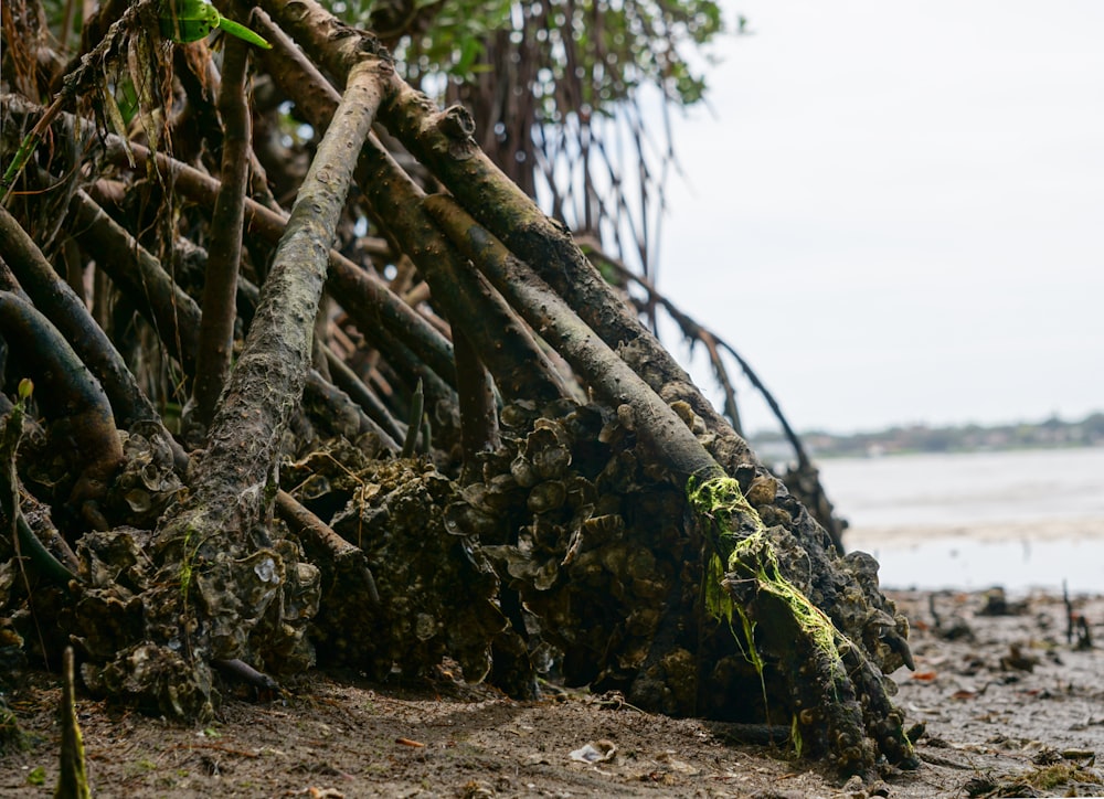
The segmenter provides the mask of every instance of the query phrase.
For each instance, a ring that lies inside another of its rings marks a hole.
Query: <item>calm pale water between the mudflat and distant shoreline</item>
[[[883,586],[1104,593],[1104,448],[818,462]]]

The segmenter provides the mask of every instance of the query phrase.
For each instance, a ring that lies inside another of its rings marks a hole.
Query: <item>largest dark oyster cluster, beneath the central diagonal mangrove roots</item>
[[[627,689],[665,615],[697,599],[701,542],[681,489],[641,457],[627,407],[516,404],[502,419],[503,447],[448,524],[478,537],[537,665],[569,685]]]

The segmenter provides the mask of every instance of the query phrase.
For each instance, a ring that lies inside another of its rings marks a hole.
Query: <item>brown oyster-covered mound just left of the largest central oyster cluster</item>
[[[490,564],[445,524],[454,483],[422,459],[369,460],[335,446],[285,473],[289,483],[302,475],[293,496],[365,558],[319,562],[323,597],[312,630],[319,652],[373,679],[396,668],[417,677],[446,656],[466,679],[484,679],[507,622]],[[365,579],[364,566],[374,577]]]

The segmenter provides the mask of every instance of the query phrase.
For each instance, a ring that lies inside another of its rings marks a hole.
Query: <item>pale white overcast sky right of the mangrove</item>
[[[1104,409],[1104,2],[726,11],[660,289],[799,430]]]

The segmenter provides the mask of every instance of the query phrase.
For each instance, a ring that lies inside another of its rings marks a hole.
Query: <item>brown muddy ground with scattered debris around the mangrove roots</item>
[[[406,686],[315,674],[276,700],[237,691],[197,728],[85,697],[77,712],[97,797],[1104,796],[1104,597],[1074,599],[1085,624],[1068,641],[1061,597],[892,596],[914,626],[916,672],[893,679],[909,724],[924,725],[923,766],[867,784],[617,696],[519,703],[447,673]],[[1097,648],[1079,649],[1086,630]],[[8,697],[30,743],[0,757],[0,795],[52,795],[59,694],[40,673]]]

